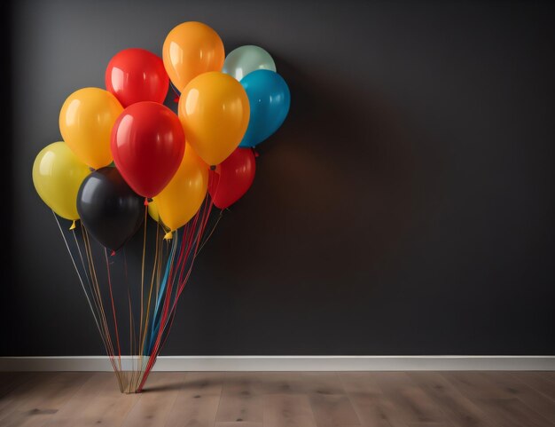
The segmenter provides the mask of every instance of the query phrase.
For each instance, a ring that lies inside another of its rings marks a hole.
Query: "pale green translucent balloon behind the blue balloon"
[[[223,63],[222,71],[240,82],[243,77],[257,69],[276,71],[276,64],[270,53],[262,47],[249,44],[231,51]]]

